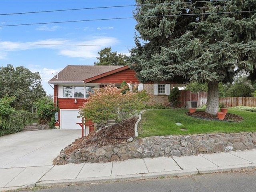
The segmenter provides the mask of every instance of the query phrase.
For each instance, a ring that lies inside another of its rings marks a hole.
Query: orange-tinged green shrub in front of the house
[[[144,90],[122,94],[122,89],[109,84],[94,90],[94,94],[81,108],[80,114],[96,123],[114,119],[117,124],[122,124],[125,119],[142,110],[148,100],[149,96]]]

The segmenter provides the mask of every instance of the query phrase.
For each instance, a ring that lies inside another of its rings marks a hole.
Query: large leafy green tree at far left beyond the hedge
[[[0,98],[15,97],[12,102],[16,110],[30,111],[34,102],[45,96],[38,72],[31,72],[22,66],[14,68],[8,64],[0,68]]]

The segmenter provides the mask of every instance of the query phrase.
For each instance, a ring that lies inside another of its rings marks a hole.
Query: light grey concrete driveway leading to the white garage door
[[[39,130],[0,137],[0,169],[52,165],[81,130]]]

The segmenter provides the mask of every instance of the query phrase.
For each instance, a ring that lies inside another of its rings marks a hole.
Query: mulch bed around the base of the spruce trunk
[[[192,117],[195,117],[195,118],[202,118],[202,119],[206,119],[206,120],[219,120],[217,118],[217,116],[210,115],[210,114],[208,114],[204,111],[196,111],[194,113],[187,112],[186,114],[188,116],[192,116]],[[240,122],[242,120],[244,120],[244,118],[242,118],[241,116],[227,113],[224,120],[219,120],[219,121]]]

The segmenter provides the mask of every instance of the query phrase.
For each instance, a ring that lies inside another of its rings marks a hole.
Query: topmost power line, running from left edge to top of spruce
[[[20,13],[5,13],[1,15],[18,15],[18,14],[33,14],[33,13],[47,13],[47,12],[61,12],[61,11],[74,11],[74,10],[90,10],[90,9],[104,9],[104,8],[120,8],[120,7],[134,7],[134,6],[147,6],[147,5],[168,5],[168,4],[183,4],[183,3],[198,3],[198,2],[225,2],[228,0],[204,0],[195,2],[170,2],[170,3],[155,3],[155,4],[137,4],[137,5],[120,5],[120,6],[106,6],[106,7],[92,7],[92,8],[76,8],[76,9],[61,9],[61,10],[48,10],[48,11],[33,11],[33,12],[20,12]]]

